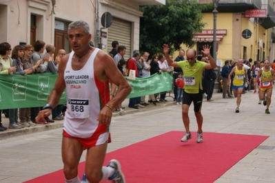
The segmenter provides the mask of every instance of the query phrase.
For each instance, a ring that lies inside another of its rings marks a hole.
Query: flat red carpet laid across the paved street
[[[128,183],[137,182],[214,182],[255,149],[268,136],[232,133],[203,133],[196,143],[196,132],[188,142],[180,142],[183,131],[170,131],[106,155],[121,162]],[[79,164],[82,177],[85,162]],[[29,182],[64,182],[63,171],[55,171]]]

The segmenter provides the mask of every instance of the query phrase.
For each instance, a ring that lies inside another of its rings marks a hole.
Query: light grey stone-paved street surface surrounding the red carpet
[[[275,182],[275,94],[272,96],[272,103],[269,107],[271,114],[265,114],[266,107],[263,104],[258,105],[258,94],[253,94],[253,92],[242,95],[240,113],[235,113],[236,98],[223,98],[222,94],[214,92],[213,102],[203,99],[203,131],[269,136],[267,140],[219,177],[216,183]],[[171,97],[165,99],[168,100],[167,103],[157,103],[156,106],[148,105],[140,109],[128,108],[128,99],[125,100],[123,107],[126,112],[122,116],[114,112],[110,129],[112,143],[108,144],[107,153],[168,131],[182,131],[184,134],[181,106],[176,105]],[[197,125],[193,105],[190,106],[189,117],[190,131],[195,133]],[[4,125],[7,126],[8,119],[3,116],[3,120]],[[2,164],[0,165],[0,182],[23,182],[62,169],[62,125],[63,121],[56,121],[47,127],[37,125],[37,127],[8,129],[0,132],[0,164]],[[6,139],[2,140],[4,138]],[[182,136],[179,136],[177,142],[180,142],[181,138]],[[205,137],[203,143],[207,141]],[[85,161],[85,158],[84,152],[81,155],[81,162]]]

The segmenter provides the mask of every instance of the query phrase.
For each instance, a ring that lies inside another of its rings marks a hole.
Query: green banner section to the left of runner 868
[[[57,74],[0,75],[0,109],[43,107]],[[65,104],[65,91],[59,104]]]

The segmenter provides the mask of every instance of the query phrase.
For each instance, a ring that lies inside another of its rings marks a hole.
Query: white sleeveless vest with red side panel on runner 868
[[[96,118],[110,100],[110,90],[108,81],[103,83],[94,73],[94,58],[98,52],[99,49],[96,48],[83,68],[77,71],[72,69],[74,52],[70,53],[64,71],[67,110],[63,129],[70,136],[78,138],[99,136],[96,144],[102,144],[108,139],[108,127],[99,125]]]

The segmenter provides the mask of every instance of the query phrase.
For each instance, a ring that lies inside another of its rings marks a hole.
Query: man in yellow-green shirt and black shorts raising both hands
[[[194,103],[194,113],[198,124],[196,142],[203,142],[203,116],[201,114],[201,105],[203,103],[203,86],[201,84],[201,76],[203,74],[203,69],[214,69],[216,67],[216,63],[210,54],[210,49],[211,46],[204,45],[203,50],[201,51],[210,59],[210,63],[196,61],[196,50],[194,49],[188,49],[186,51],[186,61],[174,62],[169,57],[169,46],[166,44],[163,45],[163,52],[169,65],[172,67],[181,67],[185,76],[182,105],[185,135],[181,139],[181,142],[187,142],[192,138],[189,127],[190,118],[188,116],[189,107],[192,102]]]

